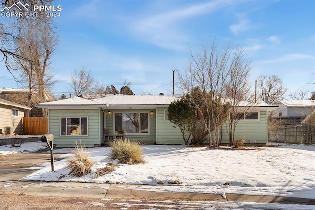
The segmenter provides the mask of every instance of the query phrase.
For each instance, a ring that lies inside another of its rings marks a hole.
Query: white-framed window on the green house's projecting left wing
[[[61,117],[60,118],[61,136],[87,136],[88,118],[87,117]]]

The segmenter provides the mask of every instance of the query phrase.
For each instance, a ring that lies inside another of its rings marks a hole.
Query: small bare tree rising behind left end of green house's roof
[[[71,82],[70,86],[76,97],[84,95],[88,99],[95,98],[97,82],[91,75],[91,70],[86,70],[84,67],[79,70],[74,69]]]

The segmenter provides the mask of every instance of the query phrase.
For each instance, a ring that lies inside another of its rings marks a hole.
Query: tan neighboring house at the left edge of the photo
[[[22,117],[27,116],[31,109],[0,98],[0,133],[22,134]]]

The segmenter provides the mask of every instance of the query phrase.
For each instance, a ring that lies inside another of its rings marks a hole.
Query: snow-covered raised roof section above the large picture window
[[[106,95],[94,99],[94,101],[105,105],[169,105],[179,99],[179,96],[160,95]]]

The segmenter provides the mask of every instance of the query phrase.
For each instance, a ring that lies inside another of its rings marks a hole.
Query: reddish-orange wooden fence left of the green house
[[[48,132],[47,117],[23,117],[23,134],[42,135]]]

